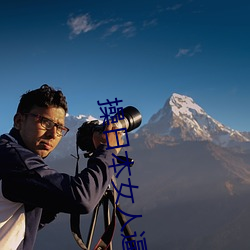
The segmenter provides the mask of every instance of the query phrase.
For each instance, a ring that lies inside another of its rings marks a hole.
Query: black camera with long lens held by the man
[[[127,132],[130,132],[138,128],[141,125],[141,121],[142,121],[142,116],[140,112],[133,106],[128,106],[122,110],[119,110],[109,120],[109,122],[111,122],[114,127],[116,127],[117,129],[126,128]],[[95,146],[92,141],[93,133],[95,131],[102,133],[104,129],[105,129],[105,123],[100,124],[98,120],[84,122],[82,126],[78,128],[76,134],[77,146],[82,151],[87,151],[88,153],[92,153],[95,150]]]

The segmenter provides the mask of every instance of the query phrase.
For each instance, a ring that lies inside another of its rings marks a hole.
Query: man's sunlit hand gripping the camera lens
[[[116,128],[113,127],[113,124],[110,123],[106,128],[105,131],[110,131],[110,130],[115,130]],[[118,139],[116,138],[116,134],[118,135]],[[93,143],[95,145],[95,148],[97,148],[100,144],[105,144],[107,145],[107,139],[106,135],[108,136],[108,143],[110,147],[116,147],[119,145],[119,147],[115,148],[116,154],[118,154],[121,151],[121,147],[124,144],[124,141],[122,139],[122,133],[121,132],[110,132],[110,133],[99,133],[99,132],[94,132],[93,133]],[[117,144],[117,142],[119,144]]]

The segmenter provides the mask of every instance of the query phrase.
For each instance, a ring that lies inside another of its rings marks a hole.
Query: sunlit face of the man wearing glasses
[[[64,126],[65,111],[60,107],[41,108],[35,106],[27,115],[17,114],[14,118],[15,127],[19,130],[25,146],[45,158],[55,149],[62,137],[57,134],[56,126],[45,129],[38,117],[29,114],[40,115],[40,117]]]

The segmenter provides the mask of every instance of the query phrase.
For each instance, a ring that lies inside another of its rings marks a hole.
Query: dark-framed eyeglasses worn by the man
[[[25,113],[24,115],[30,115],[30,116],[36,117],[38,121],[41,123],[41,126],[47,130],[50,130],[53,127],[56,127],[56,133],[58,136],[65,136],[69,132],[69,129],[67,127],[57,124],[53,122],[52,120],[45,118],[41,115],[37,115],[33,113]]]

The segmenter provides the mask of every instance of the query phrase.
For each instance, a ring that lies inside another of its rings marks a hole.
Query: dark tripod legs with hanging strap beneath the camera
[[[115,181],[115,178],[113,177],[112,180]],[[126,224],[126,217],[120,212],[120,204],[115,203],[115,199],[116,199],[115,196],[116,196],[116,192],[108,188],[105,194],[103,195],[102,199],[100,200],[100,202],[96,205],[92,214],[91,225],[89,228],[89,234],[88,234],[86,245],[83,242],[81,232],[80,232],[80,227],[79,227],[80,215],[71,214],[71,217],[70,217],[71,231],[72,231],[74,239],[76,240],[80,248],[84,250],[90,250],[93,236],[94,236],[95,227],[96,227],[99,208],[101,205],[103,205],[105,232],[93,249],[94,250],[113,250],[112,239],[113,239],[113,235],[115,231],[116,216],[122,227]],[[112,218],[110,216],[109,202],[113,206]],[[119,210],[116,209],[117,207],[119,208]],[[126,235],[126,239],[128,241],[134,240],[132,236],[133,235],[132,231],[128,224],[124,226],[124,234]]]

